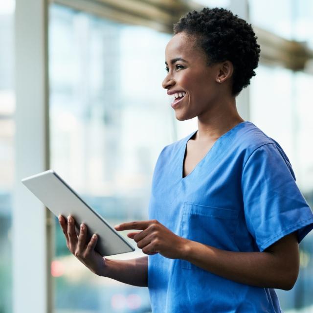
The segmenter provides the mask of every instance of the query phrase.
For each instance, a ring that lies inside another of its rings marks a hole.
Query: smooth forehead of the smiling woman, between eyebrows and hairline
[[[173,59],[181,57],[186,61],[203,59],[205,55],[195,47],[195,39],[180,32],[174,35],[165,48],[165,58]],[[169,60],[170,61],[170,60]]]

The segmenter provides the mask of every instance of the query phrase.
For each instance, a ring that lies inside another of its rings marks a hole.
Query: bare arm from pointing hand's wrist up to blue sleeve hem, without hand
[[[263,252],[234,252],[188,241],[183,259],[246,285],[291,290],[299,273],[299,246],[289,234]]]

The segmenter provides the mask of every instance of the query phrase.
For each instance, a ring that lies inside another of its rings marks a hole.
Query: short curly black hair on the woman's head
[[[208,66],[230,61],[233,64],[232,95],[250,84],[258,67],[260,45],[251,24],[224,8],[203,8],[188,12],[173,26],[174,35],[185,32],[195,36],[196,47],[208,57]]]

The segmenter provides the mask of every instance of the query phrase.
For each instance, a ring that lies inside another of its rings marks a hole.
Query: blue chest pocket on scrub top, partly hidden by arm
[[[233,236],[238,215],[237,210],[184,202],[180,235],[201,244],[234,250]],[[181,260],[181,268],[197,267]]]

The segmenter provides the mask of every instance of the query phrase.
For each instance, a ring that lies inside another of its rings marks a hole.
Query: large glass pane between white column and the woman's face
[[[176,140],[161,87],[169,35],[52,5],[49,38],[51,168],[112,225],[147,219],[156,158]],[[55,239],[55,312],[150,311],[147,288],[71,255],[57,220]]]

